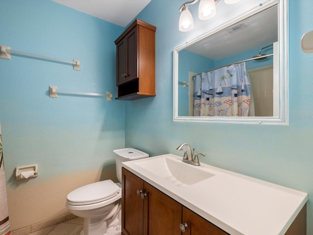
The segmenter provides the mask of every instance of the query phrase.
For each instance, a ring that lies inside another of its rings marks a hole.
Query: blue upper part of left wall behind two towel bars
[[[70,65],[11,56],[0,59],[0,121],[5,173],[39,164],[39,180],[99,170],[125,145],[124,101],[48,96],[48,86],[105,93],[115,86],[114,40],[124,28],[51,0],[1,0],[0,45],[71,61]],[[10,184],[8,184],[9,186]]]

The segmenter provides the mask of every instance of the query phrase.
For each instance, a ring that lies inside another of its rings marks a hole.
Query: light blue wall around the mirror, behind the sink
[[[313,54],[300,48],[301,36],[313,30],[313,1],[289,1],[289,126],[173,122],[173,48],[209,27],[191,6],[195,28],[179,32],[183,2],[152,0],[138,16],[156,25],[156,97],[126,104],[126,146],[151,156],[180,155],[176,147],[188,142],[206,154],[202,162],[307,192],[308,235],[313,235]],[[219,20],[213,18],[210,26]]]

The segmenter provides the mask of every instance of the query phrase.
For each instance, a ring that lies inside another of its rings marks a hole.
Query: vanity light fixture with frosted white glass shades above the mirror
[[[188,10],[187,5],[193,5],[199,0],[187,1],[181,5],[179,8],[180,17],[179,17],[179,31],[187,32],[194,28],[194,20],[190,11]],[[216,15],[216,4],[220,0],[200,0],[199,4],[199,19],[208,20]],[[240,0],[224,0],[227,4],[233,4]]]

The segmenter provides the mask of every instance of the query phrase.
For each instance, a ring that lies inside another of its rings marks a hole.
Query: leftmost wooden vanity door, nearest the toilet
[[[122,233],[123,235],[143,234],[143,202],[137,195],[143,190],[143,180],[122,168]]]

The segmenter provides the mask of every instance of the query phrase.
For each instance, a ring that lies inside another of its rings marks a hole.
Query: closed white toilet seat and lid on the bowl
[[[121,188],[113,183],[112,180],[99,181],[77,188],[68,193],[67,204],[72,206],[83,206],[100,203],[116,196],[120,198],[120,192]],[[118,198],[116,198],[116,200]]]

